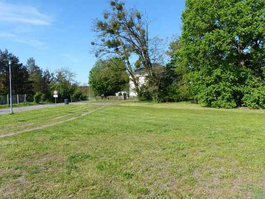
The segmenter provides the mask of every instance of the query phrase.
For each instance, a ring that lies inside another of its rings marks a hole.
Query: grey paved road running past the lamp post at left
[[[72,104],[82,104],[82,103],[87,103],[87,102],[88,101],[73,102]],[[61,105],[63,105],[63,103],[56,104],[56,106],[61,106]],[[14,107],[13,112],[15,113],[15,112],[20,112],[20,111],[43,109],[43,108],[49,108],[49,107],[55,107],[55,104],[40,104],[40,105],[34,105],[34,106]],[[10,113],[10,109],[0,109],[0,115],[8,114],[8,113]]]

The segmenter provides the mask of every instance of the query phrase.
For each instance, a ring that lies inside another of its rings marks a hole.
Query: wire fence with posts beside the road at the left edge
[[[27,94],[12,94],[12,104],[33,102],[33,96]],[[10,104],[10,95],[0,95],[0,105]]]

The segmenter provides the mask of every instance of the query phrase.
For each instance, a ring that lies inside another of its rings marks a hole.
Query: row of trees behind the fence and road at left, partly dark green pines
[[[12,94],[27,94],[27,99],[35,102],[52,101],[52,92],[59,91],[59,101],[71,96],[74,101],[86,99],[87,88],[80,89],[75,82],[75,74],[68,68],[61,68],[55,73],[42,70],[34,58],[27,60],[27,65],[19,63],[19,58],[7,50],[0,50],[0,95],[9,93],[9,66],[6,59],[11,59]],[[27,101],[28,101],[27,100]]]

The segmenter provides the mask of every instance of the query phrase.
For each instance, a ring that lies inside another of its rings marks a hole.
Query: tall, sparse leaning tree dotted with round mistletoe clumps
[[[105,11],[103,20],[96,20],[93,27],[98,33],[98,40],[92,42],[96,56],[114,55],[122,58],[126,70],[135,85],[135,91],[141,95],[136,70],[143,70],[148,74],[148,85],[153,98],[157,101],[163,60],[161,40],[149,38],[148,19],[138,10],[124,8],[120,0],[111,0],[110,12]],[[136,55],[139,59],[133,65],[131,56]]]

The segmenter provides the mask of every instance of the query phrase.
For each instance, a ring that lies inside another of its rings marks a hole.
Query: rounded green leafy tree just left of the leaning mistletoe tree
[[[125,64],[120,58],[99,60],[89,73],[89,85],[97,96],[115,95],[123,91],[128,80]]]

